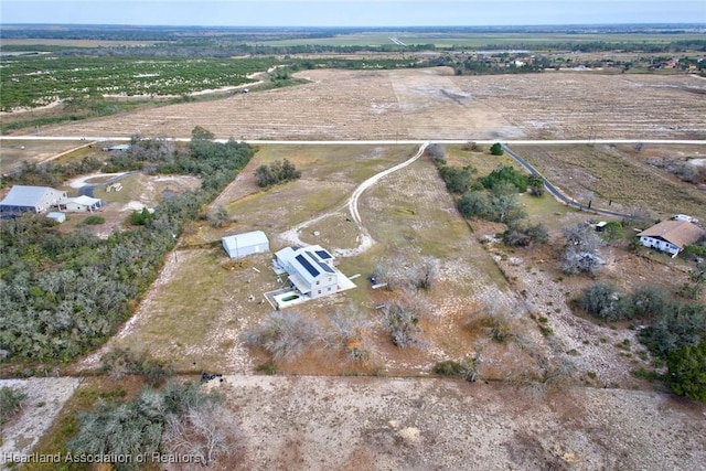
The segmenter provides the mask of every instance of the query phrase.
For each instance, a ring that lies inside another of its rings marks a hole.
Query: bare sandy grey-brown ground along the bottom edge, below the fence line
[[[214,387],[218,387],[214,384]],[[228,376],[248,469],[700,469],[704,406],[614,389]]]

